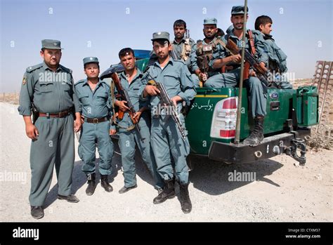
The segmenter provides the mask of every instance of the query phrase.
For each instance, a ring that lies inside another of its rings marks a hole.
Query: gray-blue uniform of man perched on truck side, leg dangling
[[[263,37],[262,35],[257,35],[255,33],[253,37],[254,47],[256,49],[259,62],[264,62],[267,65],[268,56],[267,53],[264,52],[265,44]],[[222,41],[227,43],[229,38],[233,40],[239,48],[241,48],[242,40],[238,39],[233,34],[233,31],[223,36]],[[245,48],[248,50],[250,49],[249,40],[247,38],[245,39]],[[212,68],[216,59],[225,58],[228,55],[229,53],[226,51],[226,48],[221,46],[221,44],[218,44],[216,46],[216,50],[213,53],[213,59],[209,62],[209,66]],[[240,81],[240,65],[234,65],[233,67],[234,69],[230,70],[229,72],[218,73],[213,77],[210,77],[204,83],[204,86],[209,88],[231,88],[237,86],[238,82]],[[249,77],[249,79],[244,81],[244,84],[249,88],[252,117],[266,115],[267,94],[265,92],[266,89],[263,87],[263,84],[261,84],[261,81],[257,77]]]

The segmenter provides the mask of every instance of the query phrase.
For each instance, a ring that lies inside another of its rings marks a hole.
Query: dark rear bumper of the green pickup
[[[292,145],[292,139],[304,138],[306,135],[310,135],[310,129],[301,129],[294,133],[280,133],[264,138],[263,142],[256,147],[242,145],[242,143],[235,145],[213,141],[208,157],[214,161],[223,161],[228,164],[254,162],[286,153],[288,147]]]

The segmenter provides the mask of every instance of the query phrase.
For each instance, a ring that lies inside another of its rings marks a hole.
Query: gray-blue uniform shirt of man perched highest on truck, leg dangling
[[[259,58],[259,62],[264,62],[267,66],[268,65],[268,55],[265,52],[266,46],[265,46],[265,40],[263,39],[263,35],[257,34],[256,32],[253,32],[253,31],[252,31],[252,33],[253,33],[253,38],[254,38],[254,48],[256,49],[256,55]],[[226,34],[225,36],[223,36],[222,41],[225,44],[227,44],[229,38],[232,41],[234,41],[235,44],[237,44],[238,48],[242,48],[242,39],[238,39],[238,37],[236,37],[233,34],[233,31]],[[247,48],[247,50],[251,52],[251,48],[249,47],[249,40],[247,39],[247,36],[245,36],[245,48]],[[214,64],[215,60],[221,59],[221,58],[226,58],[229,55],[230,55],[230,53],[228,51],[226,51],[226,48],[221,46],[221,44],[218,44],[216,46],[215,51],[213,52],[213,58],[209,62],[209,67],[213,68],[213,64]]]

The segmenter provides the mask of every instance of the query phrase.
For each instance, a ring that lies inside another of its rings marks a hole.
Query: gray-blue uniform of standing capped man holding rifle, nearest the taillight
[[[148,74],[145,76],[144,83],[147,84],[148,79],[161,82],[164,84],[170,98],[179,95],[187,105],[190,105],[190,100],[195,97],[196,92],[188,67],[180,60],[170,58],[163,69],[159,62],[155,62],[148,69]],[[157,96],[148,98],[152,110],[151,145],[155,154],[157,172],[164,180],[170,180],[174,177],[170,159],[171,152],[175,162],[176,178],[181,184],[186,184],[188,183],[186,157],[190,153],[188,138],[183,140],[176,123],[169,115],[155,114],[157,105],[159,105],[159,98]],[[181,107],[182,103],[178,103],[177,109],[180,120],[185,128],[185,120],[183,114],[180,113]]]

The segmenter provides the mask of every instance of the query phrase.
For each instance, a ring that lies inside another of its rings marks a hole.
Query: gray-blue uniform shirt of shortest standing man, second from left
[[[91,90],[88,80],[83,79],[75,84],[77,97],[81,102],[82,115],[88,118],[111,117],[110,86],[99,80],[94,91]]]

